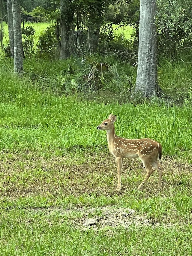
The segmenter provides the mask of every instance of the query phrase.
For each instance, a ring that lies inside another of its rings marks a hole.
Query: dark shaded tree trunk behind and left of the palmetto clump
[[[60,6],[60,27],[61,27],[61,51],[60,59],[67,59],[73,54],[72,23],[73,6],[72,0],[61,0]]]

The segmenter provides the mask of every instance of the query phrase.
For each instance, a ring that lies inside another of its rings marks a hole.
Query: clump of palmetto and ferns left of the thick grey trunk
[[[58,90],[67,93],[127,90],[128,77],[119,71],[119,62],[111,61],[109,65],[100,59],[99,56],[71,58],[67,70],[56,74],[53,87],[56,85]]]

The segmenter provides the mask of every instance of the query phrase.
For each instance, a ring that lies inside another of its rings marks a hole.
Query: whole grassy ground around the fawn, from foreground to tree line
[[[92,100],[54,93],[69,63],[26,59],[17,77],[0,59],[0,255],[192,255],[191,63],[160,60],[159,84],[173,99],[135,106],[121,90]],[[118,72],[135,76],[120,62]],[[116,134],[162,144],[161,189],[155,171],[137,191],[146,172],[127,159],[117,192],[116,162],[96,129],[110,113]]]

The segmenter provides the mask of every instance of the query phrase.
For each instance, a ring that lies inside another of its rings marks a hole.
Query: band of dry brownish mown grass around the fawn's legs
[[[162,188],[178,186],[182,178],[191,184],[192,165],[164,157]],[[135,190],[145,175],[145,169],[139,160],[125,160],[123,164],[122,190],[116,191],[116,162],[110,155],[86,155],[83,162],[70,156],[38,157],[32,155],[4,156],[0,160],[1,188],[0,197],[10,199],[27,195],[59,194],[62,189],[65,196],[83,193],[96,195],[126,194]],[[157,193],[158,174],[154,172],[146,183],[146,196]]]

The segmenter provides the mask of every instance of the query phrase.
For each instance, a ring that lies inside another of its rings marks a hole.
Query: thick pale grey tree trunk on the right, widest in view
[[[131,98],[156,95],[157,38],[155,26],[156,0],[140,0],[139,50],[137,80]]]

